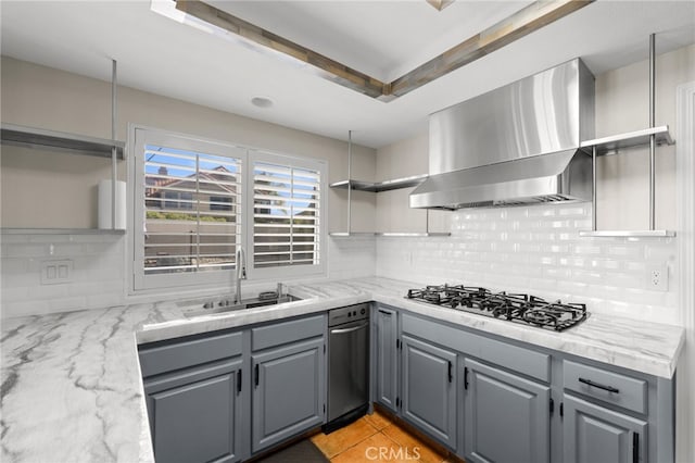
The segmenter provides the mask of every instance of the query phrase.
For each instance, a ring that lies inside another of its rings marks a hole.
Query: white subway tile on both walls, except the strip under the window
[[[591,204],[452,212],[452,236],[328,239],[328,277],[378,275],[417,285],[465,283],[585,302],[594,313],[677,324],[677,238],[580,238]],[[2,316],[128,303],[122,235],[2,235]],[[71,260],[71,280],[41,285],[46,261]],[[649,288],[666,267],[668,291]]]

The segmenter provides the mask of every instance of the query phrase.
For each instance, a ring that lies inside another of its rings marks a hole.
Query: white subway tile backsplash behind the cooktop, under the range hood
[[[452,212],[452,236],[377,239],[377,275],[585,302],[590,312],[678,323],[678,238],[580,238],[591,204]],[[650,287],[652,270],[668,290]]]

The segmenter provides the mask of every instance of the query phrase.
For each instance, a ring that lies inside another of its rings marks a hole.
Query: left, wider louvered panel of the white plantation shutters
[[[148,145],[144,273],[233,268],[241,160]]]

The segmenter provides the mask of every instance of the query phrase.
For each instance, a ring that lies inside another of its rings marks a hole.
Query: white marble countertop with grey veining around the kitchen
[[[565,333],[403,298],[418,284],[359,278],[296,285],[302,298],[269,308],[186,318],[186,303],[137,304],[4,320],[1,460],[151,462],[137,345],[376,300],[460,326],[670,378],[680,327],[592,315]]]

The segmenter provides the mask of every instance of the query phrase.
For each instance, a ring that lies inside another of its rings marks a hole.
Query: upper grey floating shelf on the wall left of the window
[[[2,124],[0,132],[3,143],[30,148],[51,148],[61,151],[71,151],[75,154],[103,158],[111,158],[112,149],[115,147],[116,157],[124,159],[125,143],[123,141],[46,130],[42,128],[24,127],[14,124]]]

